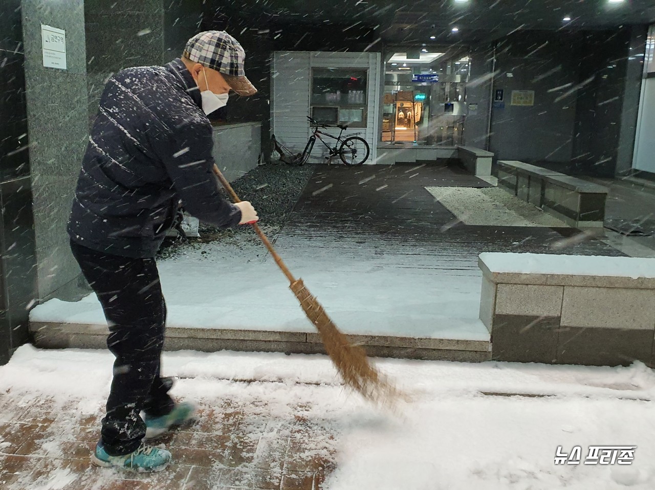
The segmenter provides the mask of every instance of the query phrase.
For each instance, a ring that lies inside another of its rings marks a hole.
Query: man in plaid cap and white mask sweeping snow
[[[107,413],[92,454],[99,466],[139,471],[166,467],[170,452],[144,438],[193,417],[160,375],[166,304],[155,264],[179,201],[217,227],[257,221],[250,202],[219,194],[207,114],[230,90],[257,92],[245,53],[224,31],[189,39],[164,67],[120,71],[107,82],[89,138],[68,223],[71,250],[98,295],[115,355]],[[143,411],[143,418],[141,418]]]

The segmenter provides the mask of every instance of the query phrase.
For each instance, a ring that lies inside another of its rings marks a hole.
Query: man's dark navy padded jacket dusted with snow
[[[178,58],[135,67],[107,81],[91,130],[68,222],[71,240],[99,252],[154,257],[181,200],[217,227],[240,210],[212,173],[212,124]]]

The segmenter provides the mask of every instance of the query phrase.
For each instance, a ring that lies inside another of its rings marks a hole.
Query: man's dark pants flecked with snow
[[[155,259],[96,252],[71,242],[84,277],[109,324],[107,347],[116,356],[102,444],[109,455],[131,453],[145,436],[140,412],[160,417],[174,402],[172,379],[160,377],[166,303]]]

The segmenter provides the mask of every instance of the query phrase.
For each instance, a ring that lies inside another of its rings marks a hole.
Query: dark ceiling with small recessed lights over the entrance
[[[655,22],[655,0],[214,0],[212,7],[238,9],[262,23],[373,27],[391,43],[423,42],[432,35],[438,42],[491,41],[523,29],[607,29]],[[563,21],[567,16],[570,22]],[[453,33],[455,27],[459,30]]]

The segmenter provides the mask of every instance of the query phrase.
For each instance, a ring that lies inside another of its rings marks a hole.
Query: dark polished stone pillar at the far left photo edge
[[[20,0],[0,5],[0,364],[28,341],[37,295]]]

